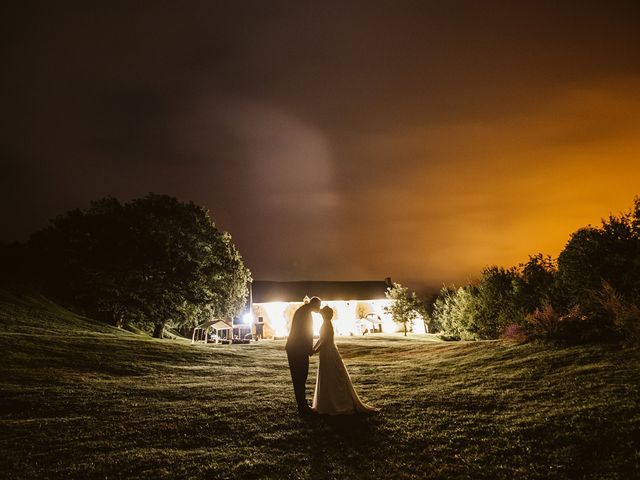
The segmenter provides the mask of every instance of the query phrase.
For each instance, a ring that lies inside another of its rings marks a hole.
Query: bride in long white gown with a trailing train
[[[320,338],[313,347],[313,353],[320,353],[313,410],[328,415],[377,412],[376,408],[362,403],[353,388],[349,372],[333,341],[333,309],[326,306],[320,313],[324,322],[320,327]]]

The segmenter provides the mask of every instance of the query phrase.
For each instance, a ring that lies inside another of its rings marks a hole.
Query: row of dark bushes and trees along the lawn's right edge
[[[640,343],[640,197],[599,226],[574,232],[557,259],[490,266],[479,280],[444,287],[432,329],[458,339]]]

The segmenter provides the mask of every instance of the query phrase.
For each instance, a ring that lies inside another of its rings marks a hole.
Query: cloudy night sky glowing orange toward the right
[[[0,8],[5,241],[153,191],[256,279],[437,287],[640,194],[636,0]]]

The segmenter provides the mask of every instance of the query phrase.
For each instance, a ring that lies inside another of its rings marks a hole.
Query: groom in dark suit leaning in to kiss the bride
[[[305,397],[307,377],[309,376],[309,357],[313,355],[313,319],[312,312],[320,311],[321,300],[313,297],[309,303],[305,303],[293,314],[291,331],[285,350],[289,360],[289,370],[291,370],[291,381],[293,391],[296,395],[298,412],[301,415],[313,413]]]

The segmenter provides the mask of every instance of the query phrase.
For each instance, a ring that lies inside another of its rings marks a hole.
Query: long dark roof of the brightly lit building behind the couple
[[[324,301],[380,300],[385,297],[391,279],[362,282],[272,282],[254,280],[251,284],[253,303],[301,302],[304,297],[320,297]]]

